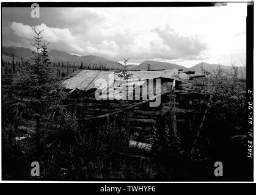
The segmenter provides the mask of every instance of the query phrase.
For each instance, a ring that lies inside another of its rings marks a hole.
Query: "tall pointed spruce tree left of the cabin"
[[[13,79],[13,108],[18,113],[25,113],[26,120],[35,121],[35,143],[37,152],[40,146],[41,124],[51,107],[52,91],[57,85],[51,76],[51,66],[47,54],[47,44],[42,44],[40,34],[43,30],[35,32],[34,56],[24,66],[24,71]]]

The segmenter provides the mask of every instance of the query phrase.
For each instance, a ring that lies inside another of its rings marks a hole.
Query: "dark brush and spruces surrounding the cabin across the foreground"
[[[210,93],[204,129],[212,142],[206,154],[196,146],[182,151],[179,134],[167,124],[150,132],[150,157],[137,158],[124,155],[131,152],[128,132],[115,118],[93,132],[79,127],[75,110],[63,104],[66,94],[53,77],[40,32],[34,31],[34,57],[2,80],[3,179],[220,180],[214,176],[216,161],[224,164],[223,180],[246,179],[246,82],[238,79],[237,68],[227,73],[219,67],[194,83],[199,90],[204,83]],[[57,117],[47,126],[50,112]],[[31,176],[32,161],[40,163],[39,177]]]

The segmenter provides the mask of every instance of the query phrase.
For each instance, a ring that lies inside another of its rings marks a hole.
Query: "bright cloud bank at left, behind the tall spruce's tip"
[[[119,51],[119,46],[113,40],[100,40],[98,44],[95,44],[88,40],[81,40],[79,35],[72,34],[67,28],[48,27],[46,24],[35,26],[35,29],[43,29],[42,41],[49,43],[49,50],[54,49],[78,55],[95,54],[111,58],[116,57]],[[12,34],[5,40],[5,45],[10,46],[14,43],[14,46],[31,48],[32,37],[35,35],[31,26],[12,22],[9,28],[5,27],[5,31],[10,31]]]

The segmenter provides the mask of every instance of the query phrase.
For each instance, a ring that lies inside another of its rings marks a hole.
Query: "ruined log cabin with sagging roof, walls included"
[[[64,104],[76,110],[79,127],[93,129],[112,117],[129,130],[134,145],[134,141],[145,143],[148,132],[166,119],[172,122],[172,131],[180,135],[184,148],[191,149],[208,98],[205,91],[193,88],[189,76],[193,73],[178,69],[127,71],[128,79],[122,74],[78,69],[62,80],[67,92]]]

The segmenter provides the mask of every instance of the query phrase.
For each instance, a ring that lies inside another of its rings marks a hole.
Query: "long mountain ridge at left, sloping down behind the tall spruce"
[[[16,59],[20,59],[21,57],[23,59],[29,59],[32,56],[32,50],[27,48],[15,48],[15,47],[2,47],[2,58],[3,60],[9,61],[10,58],[12,58],[12,54],[14,54],[15,61]],[[98,57],[96,55],[84,55],[84,56],[78,56],[78,55],[71,55],[66,52],[62,51],[49,51],[49,60],[51,62],[64,62],[67,61],[70,64],[80,66],[81,62],[83,65],[106,65],[108,68],[112,69],[120,69],[120,66],[112,62],[111,60],[104,59],[103,57]]]

